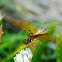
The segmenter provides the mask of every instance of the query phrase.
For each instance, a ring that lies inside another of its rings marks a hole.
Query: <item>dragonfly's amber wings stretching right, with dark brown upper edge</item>
[[[38,34],[38,35],[34,35],[33,39],[37,39],[37,40],[40,40],[40,41],[54,41],[55,38],[49,34],[49,33],[42,33],[42,34]]]

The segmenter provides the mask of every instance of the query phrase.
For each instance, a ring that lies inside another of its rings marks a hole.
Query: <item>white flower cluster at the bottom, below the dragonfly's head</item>
[[[31,62],[32,59],[32,52],[29,48],[26,48],[26,50],[21,50],[16,56],[14,57],[15,62]]]

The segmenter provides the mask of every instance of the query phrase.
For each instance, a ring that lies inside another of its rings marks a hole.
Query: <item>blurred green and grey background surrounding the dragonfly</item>
[[[3,36],[0,44],[0,61],[14,62],[13,57],[20,51],[23,40],[28,37],[12,25],[8,17],[25,19],[55,37],[55,41],[41,41],[35,47],[32,62],[62,61],[62,0],[0,0],[0,9],[7,7],[2,19]],[[32,47],[32,46],[31,46]],[[33,50],[33,49],[32,49]]]

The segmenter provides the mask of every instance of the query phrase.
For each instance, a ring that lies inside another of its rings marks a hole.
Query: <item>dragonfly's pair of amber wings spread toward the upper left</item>
[[[27,34],[35,34],[37,32],[37,28],[34,26],[34,24],[32,24],[29,21],[26,20],[10,20],[10,22],[15,25],[16,27],[18,27],[20,30],[22,30],[23,32],[27,33]]]

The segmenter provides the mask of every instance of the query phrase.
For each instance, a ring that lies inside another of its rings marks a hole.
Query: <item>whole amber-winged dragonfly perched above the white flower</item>
[[[40,32],[38,33],[38,28],[35,27],[35,25],[29,21],[26,20],[10,20],[10,22],[18,27],[20,30],[22,30],[23,32],[27,33],[29,35],[29,37],[27,39],[24,39],[23,43],[27,44],[31,41],[33,41],[34,39],[43,41],[43,40],[47,40],[47,41],[54,41],[54,37],[46,32]]]

